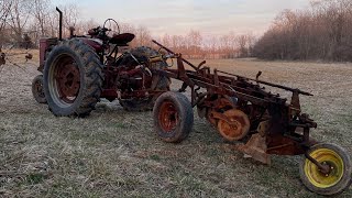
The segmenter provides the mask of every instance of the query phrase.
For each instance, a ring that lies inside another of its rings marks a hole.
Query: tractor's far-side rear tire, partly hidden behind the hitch
[[[141,46],[141,47],[131,50],[131,54],[133,54],[133,56],[135,56],[139,62],[145,62],[147,61],[148,57],[158,55],[158,52],[151,47]],[[162,69],[166,66],[167,66],[166,62],[158,62],[158,63],[151,64],[151,67],[154,69]],[[152,87],[153,90],[160,90],[160,91],[169,90],[170,79],[168,77],[154,75],[153,81],[155,81],[154,87]],[[120,101],[120,105],[123,107],[123,109],[127,111],[150,111],[150,110],[153,110],[153,106],[158,96],[160,95],[156,95],[152,98],[146,98],[146,99],[138,99],[138,98],[127,99],[127,100],[120,99],[119,101]]]

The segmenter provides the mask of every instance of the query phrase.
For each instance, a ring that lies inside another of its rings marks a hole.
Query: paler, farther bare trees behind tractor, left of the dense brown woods
[[[68,36],[70,26],[77,35],[84,35],[89,29],[99,24],[94,19],[85,21],[79,18],[79,7],[75,3],[59,6],[64,12],[64,36]],[[121,32],[135,34],[132,47],[152,45],[156,38],[173,51],[183,53],[189,58],[234,58],[251,55],[255,38],[252,34],[205,37],[197,30],[190,30],[185,35],[152,36],[151,31],[143,25],[119,22]],[[55,37],[58,32],[58,14],[51,0],[0,0],[0,48],[16,45],[16,47],[37,47],[41,37]],[[156,33],[155,33],[156,34]]]

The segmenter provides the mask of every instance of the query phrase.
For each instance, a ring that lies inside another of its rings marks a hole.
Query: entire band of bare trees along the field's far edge
[[[55,4],[56,6],[56,4]],[[51,0],[0,0],[0,48],[37,47],[41,37],[57,36],[58,14]],[[102,25],[81,20],[78,4],[58,6],[64,12],[64,36],[69,26],[77,35]],[[116,19],[119,22],[119,19]],[[312,0],[302,11],[285,10],[267,32],[204,36],[197,30],[183,35],[151,33],[147,26],[121,23],[121,32],[136,35],[131,46],[152,45],[155,38],[187,58],[323,59],[352,61],[352,1]],[[152,35],[153,34],[153,35]]]

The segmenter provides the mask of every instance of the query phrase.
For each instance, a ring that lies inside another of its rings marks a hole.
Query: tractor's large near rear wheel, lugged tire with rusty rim
[[[100,99],[102,66],[89,45],[74,38],[55,46],[44,66],[44,94],[57,117],[86,117]]]

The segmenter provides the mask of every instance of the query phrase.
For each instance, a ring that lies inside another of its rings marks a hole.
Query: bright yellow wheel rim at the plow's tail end
[[[344,165],[340,155],[329,148],[318,148],[312,151],[310,156],[322,165],[330,167],[330,173],[323,174],[317,165],[306,160],[305,174],[314,186],[329,188],[341,180]]]

